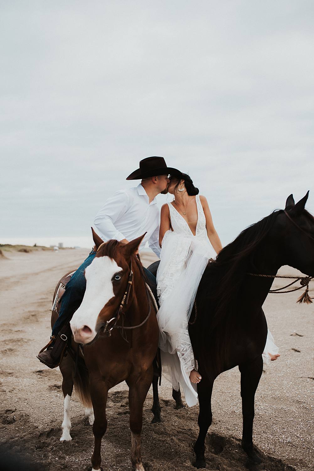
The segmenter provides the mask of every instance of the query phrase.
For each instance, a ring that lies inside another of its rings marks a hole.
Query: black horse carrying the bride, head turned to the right
[[[197,385],[199,436],[194,445],[197,468],[205,468],[205,437],[212,421],[211,393],[222,372],[239,366],[243,414],[242,447],[255,469],[263,466],[253,447],[254,397],[263,371],[267,323],[262,305],[276,275],[290,265],[314,276],[314,217],[290,195],[285,210],[274,211],[245,229],[209,263],[196,295],[196,318],[189,333],[202,376]],[[159,262],[148,269],[156,272]],[[194,313],[195,316],[195,313]],[[156,381],[155,381],[156,382]],[[154,406],[158,409],[157,385]],[[223,398],[222,398],[223,400]],[[264,469],[264,468],[260,468]]]

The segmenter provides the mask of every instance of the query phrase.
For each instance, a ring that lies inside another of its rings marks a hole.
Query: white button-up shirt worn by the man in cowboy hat
[[[144,249],[148,241],[149,247],[160,256],[159,246],[160,211],[156,198],[149,203],[144,187],[117,191],[107,199],[97,213],[94,225],[104,242],[110,239],[127,239],[129,242],[145,232],[139,250]]]

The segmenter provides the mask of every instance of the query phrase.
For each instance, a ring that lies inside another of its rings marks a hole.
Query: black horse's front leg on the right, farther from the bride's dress
[[[243,414],[242,448],[248,454],[253,463],[261,463],[261,459],[253,449],[253,420],[254,398],[258,382],[263,372],[262,356],[257,357],[251,363],[239,365],[241,372],[241,397]]]

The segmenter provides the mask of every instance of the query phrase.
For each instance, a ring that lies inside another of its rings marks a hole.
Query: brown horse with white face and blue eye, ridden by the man
[[[101,440],[107,428],[108,390],[126,381],[131,461],[137,471],[144,471],[140,451],[143,404],[153,380],[158,325],[145,287],[143,268],[135,255],[143,236],[126,245],[115,240],[103,243],[95,233],[93,238],[97,255],[85,270],[86,292],[71,320],[72,347],[75,350],[78,344],[84,344],[87,369],[81,359],[75,368],[70,355],[60,364],[64,393],[61,440],[71,440],[69,403],[74,381],[90,423],[93,423],[93,411],[95,414],[95,448],[91,461],[93,470],[99,470]]]

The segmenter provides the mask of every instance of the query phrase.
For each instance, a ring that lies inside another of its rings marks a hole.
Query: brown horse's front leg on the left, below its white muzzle
[[[91,462],[93,465],[92,471],[100,470],[101,463],[101,439],[107,430],[106,418],[106,405],[108,398],[108,386],[100,378],[91,378],[90,382],[90,396],[93,403],[95,420],[93,424],[93,433],[95,437],[94,453],[92,454]]]

